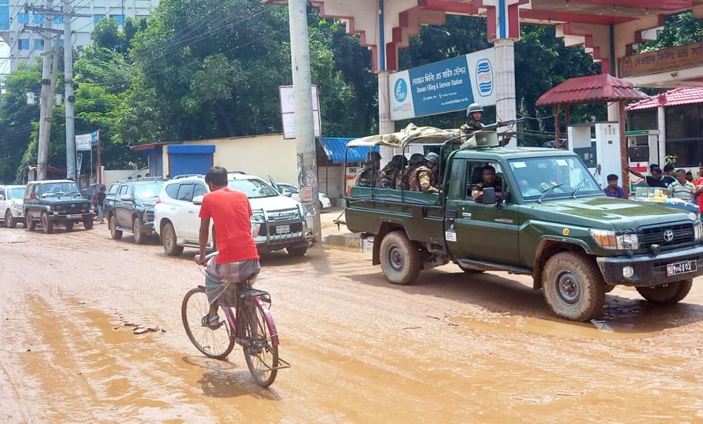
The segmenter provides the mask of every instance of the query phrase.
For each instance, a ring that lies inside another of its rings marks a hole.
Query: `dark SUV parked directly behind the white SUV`
[[[122,238],[122,232],[131,231],[134,241],[142,244],[154,232],[154,205],[164,186],[162,178],[139,178],[112,183],[105,193],[103,211],[108,218],[112,239]]]

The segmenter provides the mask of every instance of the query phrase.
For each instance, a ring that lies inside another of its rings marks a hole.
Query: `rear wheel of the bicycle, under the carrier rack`
[[[278,373],[278,346],[271,343],[271,328],[262,308],[252,300],[243,302],[244,358],[257,384],[269,387]]]

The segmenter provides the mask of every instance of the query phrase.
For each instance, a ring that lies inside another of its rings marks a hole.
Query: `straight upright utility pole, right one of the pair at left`
[[[66,178],[77,180],[76,175],[76,130],[73,119],[73,46],[71,44],[70,0],[63,0],[63,73],[66,108]]]

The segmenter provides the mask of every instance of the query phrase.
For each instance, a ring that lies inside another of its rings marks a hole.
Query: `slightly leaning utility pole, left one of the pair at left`
[[[52,0],[46,1],[46,8],[53,6]],[[51,19],[46,20],[46,28],[51,29]],[[50,31],[45,34],[51,34]],[[51,37],[53,39],[53,37]],[[41,54],[41,95],[39,102],[39,141],[37,146],[37,180],[46,180],[46,161],[49,159],[49,140],[51,136],[51,112],[53,112],[53,95],[51,83],[56,74],[51,74],[51,39],[44,40],[44,53]]]

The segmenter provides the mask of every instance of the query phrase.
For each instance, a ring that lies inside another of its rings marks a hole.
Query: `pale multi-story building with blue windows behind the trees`
[[[48,42],[38,32],[23,29],[25,26],[40,27],[52,19],[49,15],[27,11],[27,4],[44,6],[46,1],[0,0],[0,37],[9,46],[11,69],[31,63]],[[62,11],[63,7],[68,7],[73,13],[90,15],[71,21],[72,43],[78,48],[92,43],[90,33],[99,20],[115,18],[122,27],[124,18],[148,18],[157,4],[158,0],[53,0],[53,10]],[[63,29],[63,18],[53,18],[52,22],[53,28]],[[63,44],[63,37],[60,44]]]

